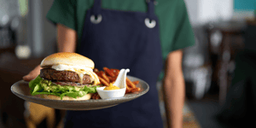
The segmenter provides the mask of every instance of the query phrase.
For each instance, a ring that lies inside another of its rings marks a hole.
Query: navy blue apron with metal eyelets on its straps
[[[102,9],[95,0],[87,11],[78,52],[95,62],[96,68],[130,68],[128,75],[143,79],[147,94],[112,108],[67,111],[68,127],[163,127],[156,82],[162,68],[158,19],[154,2],[148,12]]]

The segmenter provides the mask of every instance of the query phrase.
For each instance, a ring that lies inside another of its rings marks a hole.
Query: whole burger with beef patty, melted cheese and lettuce
[[[76,53],[61,52],[44,58],[40,74],[29,83],[32,96],[53,100],[89,100],[99,79],[94,62]]]

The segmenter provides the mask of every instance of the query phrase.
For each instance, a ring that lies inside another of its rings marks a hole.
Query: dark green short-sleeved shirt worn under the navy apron
[[[183,0],[158,0],[154,13],[159,19],[160,44],[163,60],[169,52],[195,44],[189,24],[189,16]],[[82,37],[86,10],[94,0],[55,0],[47,18],[78,32],[78,44]],[[147,12],[146,0],[102,0],[102,9]]]

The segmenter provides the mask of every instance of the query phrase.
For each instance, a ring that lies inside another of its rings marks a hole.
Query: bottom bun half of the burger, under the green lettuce
[[[55,95],[40,95],[42,98],[44,99],[51,99],[51,100],[61,100],[60,96],[55,96]],[[87,95],[83,96],[83,97],[77,97],[77,98],[73,98],[70,96],[63,96],[62,100],[64,101],[82,101],[82,100],[90,100],[92,96],[92,93],[88,93]]]

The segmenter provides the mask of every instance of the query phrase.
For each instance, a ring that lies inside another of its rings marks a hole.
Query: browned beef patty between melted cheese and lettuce
[[[78,73],[71,71],[57,71],[52,68],[44,68],[40,71],[40,77],[43,79],[49,79],[54,81],[61,82],[75,82],[79,83],[80,78]],[[93,81],[90,81],[90,75],[85,74],[83,78],[83,84],[92,84]]]

